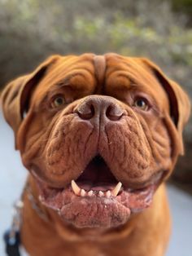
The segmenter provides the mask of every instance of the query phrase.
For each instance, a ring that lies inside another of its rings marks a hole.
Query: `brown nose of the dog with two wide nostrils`
[[[76,113],[83,120],[104,117],[111,121],[118,121],[123,116],[124,111],[120,108],[117,100],[110,96],[91,95],[77,106]]]

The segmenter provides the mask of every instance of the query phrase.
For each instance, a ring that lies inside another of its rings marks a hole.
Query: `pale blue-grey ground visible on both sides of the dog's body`
[[[11,129],[0,113],[0,236],[11,223],[11,204],[20,196],[26,170],[20,163],[19,152],[14,150]],[[181,190],[168,186],[172,210],[172,238],[167,256],[192,255],[192,197]],[[0,255],[5,256],[0,237]],[[138,255],[139,256],[139,255]]]

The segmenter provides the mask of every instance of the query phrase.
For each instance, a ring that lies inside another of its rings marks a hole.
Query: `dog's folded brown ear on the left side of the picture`
[[[38,66],[33,73],[15,79],[2,91],[2,111],[15,135],[24,118],[24,111],[27,108],[30,92],[46,74],[47,68],[54,64],[58,58],[59,55],[51,56]]]

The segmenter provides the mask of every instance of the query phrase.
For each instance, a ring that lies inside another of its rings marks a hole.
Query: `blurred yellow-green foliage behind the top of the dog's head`
[[[190,90],[192,29],[168,2],[0,0],[0,86],[47,55],[144,55]]]

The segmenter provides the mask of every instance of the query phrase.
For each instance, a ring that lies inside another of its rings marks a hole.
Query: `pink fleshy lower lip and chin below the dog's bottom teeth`
[[[39,180],[37,184],[39,201],[55,210],[64,223],[80,228],[111,228],[123,225],[131,214],[137,214],[151,205],[157,188],[155,183],[139,189],[123,187],[117,196],[107,198],[99,197],[98,193],[94,196],[76,195],[70,184],[66,188],[51,188]],[[91,212],[90,209],[94,210]]]

